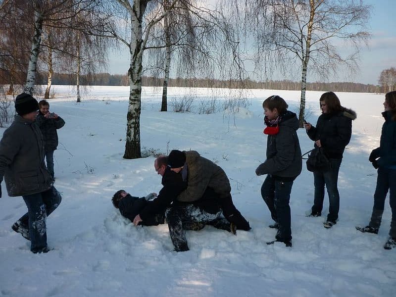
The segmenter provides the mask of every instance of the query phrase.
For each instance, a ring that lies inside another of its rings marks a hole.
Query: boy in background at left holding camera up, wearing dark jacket
[[[52,179],[55,181],[53,173],[53,152],[58,146],[58,134],[56,130],[62,128],[65,121],[56,113],[49,112],[49,103],[47,100],[41,100],[39,102],[39,107],[40,111],[36,117],[36,123],[43,134],[47,169]]]

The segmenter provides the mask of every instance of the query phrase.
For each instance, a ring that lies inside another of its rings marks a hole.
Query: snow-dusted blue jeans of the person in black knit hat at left
[[[22,197],[28,212],[19,221],[22,227],[29,228],[30,250],[40,252],[47,247],[47,216],[58,207],[62,197],[53,186],[45,192]]]

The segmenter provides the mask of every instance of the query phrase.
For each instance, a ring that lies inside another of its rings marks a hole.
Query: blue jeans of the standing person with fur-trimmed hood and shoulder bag
[[[313,173],[315,196],[312,212],[322,212],[326,185],[327,194],[329,195],[329,214],[327,215],[327,220],[336,222],[338,219],[338,211],[340,210],[340,194],[338,193],[337,183],[342,159],[329,159],[329,161],[331,165],[329,170]]]

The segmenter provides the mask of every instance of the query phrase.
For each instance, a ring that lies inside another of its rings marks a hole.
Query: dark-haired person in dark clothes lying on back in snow
[[[130,219],[131,222],[133,222],[135,216],[139,214],[143,208],[152,203],[152,201],[149,200],[155,198],[156,196],[157,195],[155,193],[150,193],[146,197],[139,198],[131,196],[124,190],[119,190],[114,194],[113,198],[111,198],[111,201],[113,202],[114,207],[118,208],[124,217]],[[164,221],[165,214],[162,211],[148,215],[145,221],[139,222],[139,225],[156,226],[158,224],[163,224]]]

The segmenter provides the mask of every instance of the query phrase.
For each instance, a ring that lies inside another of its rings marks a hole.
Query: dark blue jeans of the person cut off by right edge
[[[378,177],[374,193],[373,210],[384,210],[385,198],[389,190],[389,204],[392,210],[391,230],[389,231],[389,235],[396,238],[396,170],[380,167],[377,173]]]

